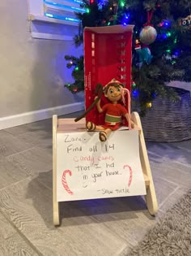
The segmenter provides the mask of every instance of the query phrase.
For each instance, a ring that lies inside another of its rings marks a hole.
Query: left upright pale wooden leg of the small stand
[[[57,115],[53,115],[53,224],[60,224],[59,202],[57,202]]]

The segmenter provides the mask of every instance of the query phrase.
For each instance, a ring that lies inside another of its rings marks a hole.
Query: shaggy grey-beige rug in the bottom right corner
[[[126,256],[191,255],[191,190],[159,219]]]

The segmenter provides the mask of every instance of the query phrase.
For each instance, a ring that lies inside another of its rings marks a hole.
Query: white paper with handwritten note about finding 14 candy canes
[[[57,133],[57,202],[144,194],[138,131]]]

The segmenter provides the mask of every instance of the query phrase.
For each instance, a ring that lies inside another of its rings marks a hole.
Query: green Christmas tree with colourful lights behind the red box
[[[83,43],[83,28],[134,24],[132,42],[132,99],[141,115],[155,97],[176,101],[176,92],[167,86],[172,80],[191,80],[190,0],[83,0],[86,12],[76,13],[79,34],[75,46]],[[84,89],[83,56],[66,56],[73,68],[72,93]]]

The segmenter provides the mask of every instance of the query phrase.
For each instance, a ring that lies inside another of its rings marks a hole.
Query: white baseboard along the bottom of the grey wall
[[[0,118],[0,130],[49,119],[52,118],[53,115],[67,115],[83,110],[84,102],[76,102],[63,106],[50,107],[39,111],[30,111],[19,115],[10,115]]]

